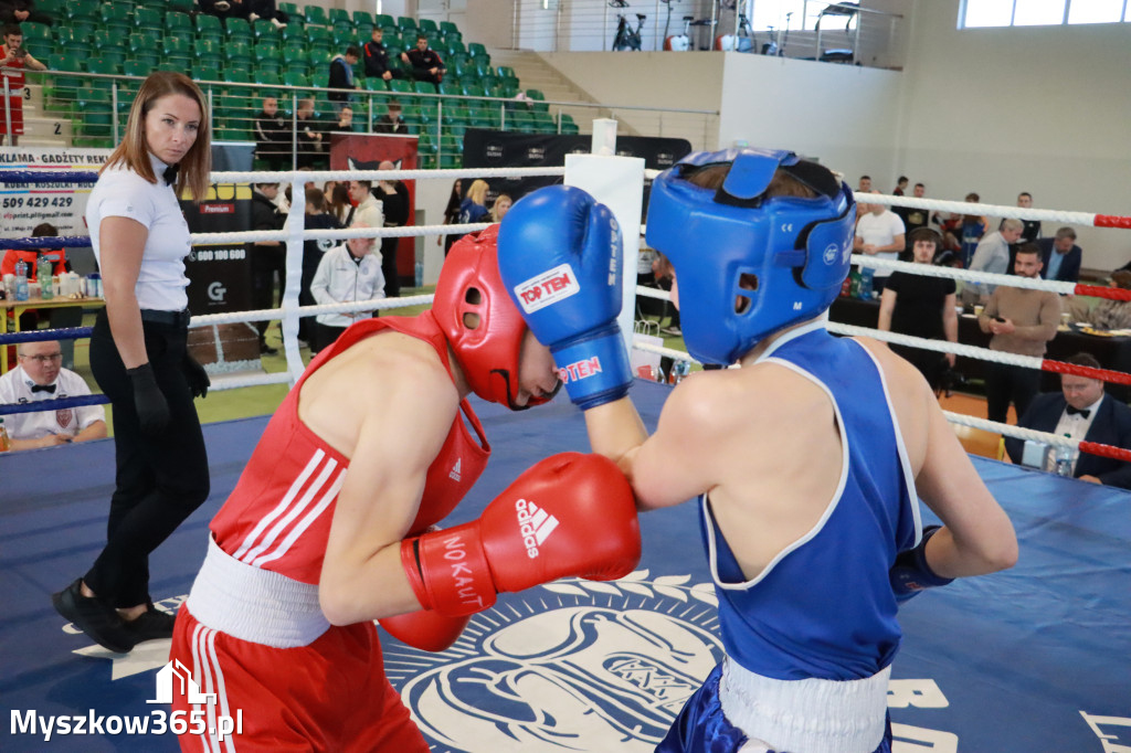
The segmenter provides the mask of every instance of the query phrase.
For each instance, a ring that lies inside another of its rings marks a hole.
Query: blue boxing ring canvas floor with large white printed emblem
[[[666,387],[633,397],[655,425]],[[511,414],[476,401],[494,457],[450,519],[463,522],[525,468],[586,449],[563,398]],[[205,427],[209,501],[150,563],[175,608],[266,418]],[[172,735],[20,732],[37,718],[152,717],[167,642],[107,654],[51,608],[105,535],[110,440],[0,456],[2,751],[174,751]],[[975,458],[1021,542],[1018,565],[905,606],[889,694],[897,752],[1131,750],[1131,494]],[[390,678],[433,750],[648,751],[718,657],[696,510],[641,518],[644,560],[616,583],[569,581],[506,595],[442,655],[382,634]],[[364,700],[348,713],[364,713]],[[15,712],[15,713],[14,713]]]

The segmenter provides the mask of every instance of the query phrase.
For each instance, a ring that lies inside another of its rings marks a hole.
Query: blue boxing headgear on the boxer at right
[[[717,191],[690,173],[732,163]],[[817,198],[766,197],[783,170]],[[699,152],[651,184],[648,245],[675,267],[692,356],[731,364],[759,340],[820,314],[848,276],[856,204],[827,167],[792,152]]]

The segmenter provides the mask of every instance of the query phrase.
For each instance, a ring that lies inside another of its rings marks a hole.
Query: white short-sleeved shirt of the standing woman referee
[[[153,311],[183,311],[189,308],[184,288],[189,278],[184,274],[184,257],[192,244],[189,224],[176,200],[172,185],[165,183],[163,173],[169,167],[149,155],[149,164],[157,176],[150,183],[124,165],[107,167],[98,178],[86,205],[86,225],[90,231],[94,257],[102,266],[102,245],[98,240],[102,220],[106,217],[129,217],[148,228],[141,257],[141,269],[133,288],[138,308]],[[113,251],[111,251],[113,252]]]

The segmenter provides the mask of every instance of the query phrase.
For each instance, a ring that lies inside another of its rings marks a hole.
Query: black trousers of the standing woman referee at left
[[[105,311],[90,336],[90,370],[113,407],[116,474],[106,546],[84,580],[118,608],[146,603],[149,553],[204,503],[209,488],[204,434],[182,369],[188,330],[149,321],[143,326],[146,353],[171,416],[159,436],[141,433],[132,383]]]

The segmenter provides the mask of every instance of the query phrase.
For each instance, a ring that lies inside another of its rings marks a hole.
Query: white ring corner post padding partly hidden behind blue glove
[[[640,253],[640,211],[644,202],[644,159],[602,157],[590,154],[566,155],[566,184],[585,189],[616,217],[621,226],[624,253],[621,259],[621,326],[624,346],[632,352],[632,319],[636,311],[636,269]]]

